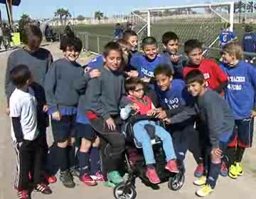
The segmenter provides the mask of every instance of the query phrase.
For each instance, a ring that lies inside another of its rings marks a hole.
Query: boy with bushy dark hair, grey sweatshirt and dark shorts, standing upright
[[[75,80],[84,75],[76,62],[82,50],[82,41],[73,36],[63,37],[60,44],[64,58],[56,60],[46,75],[46,99],[50,106],[51,126],[56,146],[55,161],[60,166],[60,181],[67,188],[74,188],[75,171],[75,119],[79,94]]]

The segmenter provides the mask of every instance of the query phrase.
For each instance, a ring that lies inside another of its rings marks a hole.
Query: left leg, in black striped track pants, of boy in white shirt
[[[31,144],[29,141],[18,143],[14,141],[14,147],[17,155],[17,174],[15,188],[18,190],[28,189],[28,173],[31,170]]]

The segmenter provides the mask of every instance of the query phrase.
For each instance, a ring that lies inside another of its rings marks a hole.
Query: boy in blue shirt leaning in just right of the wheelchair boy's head
[[[183,80],[173,80],[174,75],[169,65],[159,65],[154,70],[154,75],[157,85],[156,94],[161,107],[165,108],[160,114],[166,114],[166,116],[168,114],[168,116],[171,117],[171,115],[181,112],[183,107],[191,102],[191,96],[188,94]],[[191,117],[181,124],[169,125],[168,128],[173,138],[177,163],[180,168],[183,168],[183,160],[189,148],[193,131],[195,131],[193,129],[194,122],[195,119]]]

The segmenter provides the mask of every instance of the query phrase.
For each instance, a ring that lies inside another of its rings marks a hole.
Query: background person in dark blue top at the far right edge
[[[252,33],[252,26],[245,26],[245,35],[242,38],[242,48],[247,53],[256,53],[256,33]],[[254,63],[255,55],[245,55],[245,61]]]

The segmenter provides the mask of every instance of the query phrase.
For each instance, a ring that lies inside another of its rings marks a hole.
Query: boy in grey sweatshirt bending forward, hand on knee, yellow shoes
[[[208,175],[204,181],[195,181],[195,185],[204,185],[196,195],[204,197],[215,188],[220,173],[221,158],[228,147],[233,134],[234,118],[232,110],[223,97],[206,89],[206,80],[199,70],[188,72],[185,77],[188,92],[194,97],[193,107],[171,117],[167,122],[177,124],[191,116],[198,116],[203,127],[206,157],[208,157]]]

